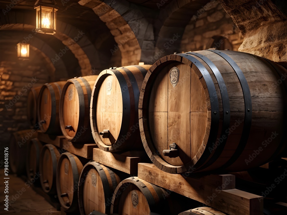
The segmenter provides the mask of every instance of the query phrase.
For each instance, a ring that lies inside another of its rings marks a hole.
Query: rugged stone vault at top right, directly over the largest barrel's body
[[[284,15],[286,11],[279,9],[286,10],[285,1],[218,1],[243,35],[239,51],[287,66],[287,18]]]

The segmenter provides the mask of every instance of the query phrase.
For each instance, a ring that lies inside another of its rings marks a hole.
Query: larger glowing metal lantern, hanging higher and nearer
[[[59,7],[55,6],[54,0],[37,0],[36,9],[36,32],[42,34],[56,33],[56,11]]]

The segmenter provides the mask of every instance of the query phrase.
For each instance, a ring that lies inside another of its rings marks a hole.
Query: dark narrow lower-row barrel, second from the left
[[[32,139],[27,145],[27,157],[26,157],[26,172],[28,180],[34,178],[35,185],[40,184],[39,175],[39,161],[40,161],[40,152],[42,149],[42,142],[37,138]]]

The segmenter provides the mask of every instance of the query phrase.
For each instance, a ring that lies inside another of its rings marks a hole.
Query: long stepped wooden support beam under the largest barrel
[[[235,189],[234,175],[192,178],[166,173],[154,164],[139,163],[138,177],[230,215],[263,215],[263,198]]]

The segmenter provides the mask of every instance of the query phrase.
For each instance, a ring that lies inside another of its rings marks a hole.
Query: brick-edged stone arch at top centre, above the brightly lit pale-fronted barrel
[[[141,60],[141,46],[144,44],[148,22],[130,3],[115,0],[80,0],[80,5],[91,8],[110,29],[115,45],[112,54],[121,51],[122,65],[138,64]]]

